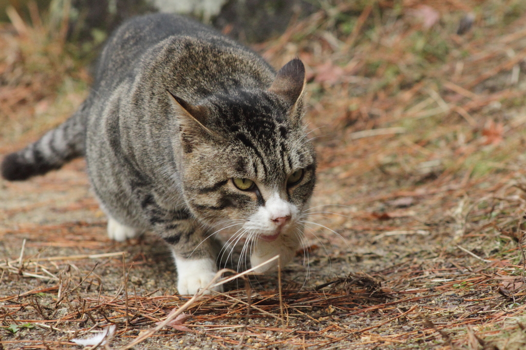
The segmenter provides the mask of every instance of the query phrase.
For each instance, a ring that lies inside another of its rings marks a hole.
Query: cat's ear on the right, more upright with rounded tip
[[[285,98],[293,107],[304,89],[305,66],[299,58],[295,58],[281,67],[268,90]]]

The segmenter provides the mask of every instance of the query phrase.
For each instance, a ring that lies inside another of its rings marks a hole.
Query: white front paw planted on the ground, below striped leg
[[[181,295],[193,295],[199,289],[202,289],[214,279],[217,273],[217,266],[212,259],[181,259],[175,258],[177,266],[177,291]],[[222,292],[222,286],[212,289],[216,292]],[[205,291],[205,294],[210,294]]]

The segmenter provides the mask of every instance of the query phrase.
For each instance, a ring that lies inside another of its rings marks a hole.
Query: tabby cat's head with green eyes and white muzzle
[[[273,241],[302,231],[316,157],[301,122],[305,68],[282,67],[268,89],[237,89],[190,105],[173,96],[183,186],[195,217]]]

